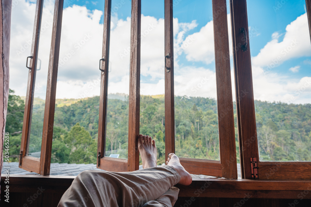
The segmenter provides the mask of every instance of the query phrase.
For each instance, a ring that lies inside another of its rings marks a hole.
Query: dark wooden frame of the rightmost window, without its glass
[[[306,0],[306,6],[310,29],[310,0]],[[254,178],[251,158],[257,159],[259,179],[311,179],[311,162],[264,162],[259,160],[250,46],[248,41],[247,51],[242,51],[241,45],[244,45],[244,38],[239,31],[244,27],[247,31],[247,40],[249,40],[246,0],[230,0],[230,10],[242,179]],[[248,93],[245,94],[243,91]],[[242,96],[242,94],[244,95]]]

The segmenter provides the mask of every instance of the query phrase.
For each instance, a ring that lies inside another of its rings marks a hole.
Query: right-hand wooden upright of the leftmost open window
[[[41,175],[49,175],[52,152],[53,125],[55,112],[56,82],[58,72],[58,59],[60,37],[62,31],[64,0],[55,0],[51,50],[49,58],[48,82],[46,87],[44,119],[43,119],[43,136],[40,156]]]

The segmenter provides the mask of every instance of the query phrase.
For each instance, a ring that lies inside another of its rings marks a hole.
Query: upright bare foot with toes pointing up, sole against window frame
[[[142,157],[142,168],[156,167],[156,141],[149,136],[139,134],[138,149]]]

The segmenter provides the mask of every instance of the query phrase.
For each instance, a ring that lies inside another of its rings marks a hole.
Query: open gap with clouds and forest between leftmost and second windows
[[[97,161],[103,12],[104,2],[64,2],[51,163]],[[50,174],[77,175],[81,169],[55,172],[51,165]]]

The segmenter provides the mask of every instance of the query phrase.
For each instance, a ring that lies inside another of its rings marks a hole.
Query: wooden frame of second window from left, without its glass
[[[139,135],[140,115],[140,41],[141,41],[141,0],[132,0],[131,5],[131,45],[130,45],[130,91],[128,114],[128,159],[105,157],[107,101],[108,101],[108,63],[110,46],[111,0],[105,0],[104,38],[101,66],[100,112],[98,128],[97,167],[107,171],[125,172],[139,169],[137,137]]]

